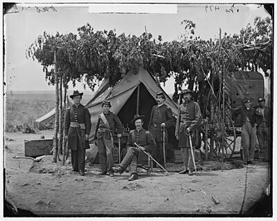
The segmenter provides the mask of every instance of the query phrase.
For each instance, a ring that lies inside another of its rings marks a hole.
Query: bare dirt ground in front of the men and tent
[[[98,176],[99,164],[86,164],[82,177],[69,162],[52,163],[51,155],[40,162],[12,158],[24,156],[24,140],[41,135],[51,138],[53,131],[6,133],[4,151],[6,199],[39,216],[239,216],[269,186],[269,165],[258,160],[248,166],[239,159],[226,162],[224,171],[220,162],[204,162],[197,176],[179,175],[182,164],[169,164],[170,175],[154,169],[151,176],[141,173],[128,182],[129,173]]]

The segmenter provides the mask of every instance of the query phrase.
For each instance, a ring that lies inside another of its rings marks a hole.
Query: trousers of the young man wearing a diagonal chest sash
[[[103,172],[113,172],[112,167],[114,166],[114,159],[112,156],[111,140],[100,137],[97,139],[98,142],[98,154],[100,167]]]

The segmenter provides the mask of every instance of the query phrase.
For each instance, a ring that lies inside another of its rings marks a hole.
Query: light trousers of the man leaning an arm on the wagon
[[[251,126],[249,122],[245,122],[242,125],[242,149],[244,162],[254,160],[256,140],[256,126]]]

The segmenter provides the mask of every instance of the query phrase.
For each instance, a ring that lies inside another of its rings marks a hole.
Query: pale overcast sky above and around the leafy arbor
[[[125,32],[126,35],[131,33],[139,36],[146,27],[155,39],[161,35],[163,41],[172,41],[184,33],[181,21],[187,19],[196,23],[196,36],[215,39],[220,28],[222,33],[234,34],[245,28],[247,23],[253,24],[255,17],[269,16],[263,7],[250,4],[235,4],[233,7],[231,4],[179,4],[176,14],[139,15],[93,14],[89,13],[88,4],[73,4],[70,7],[53,4],[55,10],[49,9],[48,12],[42,12],[43,6],[35,6],[39,5],[19,5],[10,10],[16,13],[4,16],[5,76],[8,90],[55,90],[54,86],[48,86],[45,81],[42,66],[25,56],[26,48],[44,31],[53,35],[56,32],[77,34],[77,28],[89,22],[94,30],[115,28],[117,35]],[[138,6],[136,8],[139,9]],[[233,12],[226,12],[230,8]],[[72,86],[69,89],[72,90]],[[81,85],[77,89],[83,90]],[[172,80],[167,82],[165,90],[173,93]]]

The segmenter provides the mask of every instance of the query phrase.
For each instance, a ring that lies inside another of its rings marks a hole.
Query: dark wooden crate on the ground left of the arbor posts
[[[52,139],[24,140],[25,156],[39,157],[42,155],[52,155]]]

